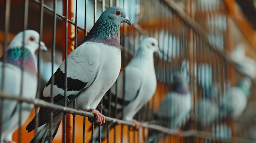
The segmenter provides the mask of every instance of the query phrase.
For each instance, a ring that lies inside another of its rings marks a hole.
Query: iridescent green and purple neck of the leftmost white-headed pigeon
[[[7,49],[7,52],[6,52],[7,63],[21,67],[22,52],[23,52],[22,48],[19,48],[19,47],[13,47],[13,48]],[[24,49],[23,57],[24,57],[23,68],[31,73],[36,74],[37,69],[36,69],[34,57],[27,48]],[[3,61],[3,57],[0,60]]]

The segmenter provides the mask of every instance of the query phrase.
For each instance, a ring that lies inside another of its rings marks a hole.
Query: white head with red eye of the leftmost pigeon
[[[39,41],[39,37],[39,33],[34,30],[22,31],[13,38],[8,48],[22,47],[24,44],[24,47],[27,48],[31,53],[35,53],[38,48],[46,52],[47,48],[45,43]]]

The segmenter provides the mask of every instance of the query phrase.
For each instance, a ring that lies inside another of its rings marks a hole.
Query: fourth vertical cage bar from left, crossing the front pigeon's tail
[[[51,95],[53,95],[53,85],[54,85],[54,61],[55,61],[55,48],[56,48],[56,7],[57,7],[57,0],[54,0],[54,15],[53,15],[53,33],[52,33],[52,86],[51,86]],[[53,103],[53,96],[51,96],[51,103]],[[49,121],[49,126],[50,126],[50,136],[49,136],[49,142],[52,142],[53,137],[52,137],[52,125],[53,125],[53,111],[50,110],[50,121]]]

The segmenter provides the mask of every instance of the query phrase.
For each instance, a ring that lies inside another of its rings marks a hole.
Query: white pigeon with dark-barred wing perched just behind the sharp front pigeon
[[[117,84],[111,87],[111,103],[108,96],[103,98],[103,113],[108,114],[107,109],[110,106],[112,113],[110,116],[115,117],[114,111],[117,107],[118,115],[116,118],[132,121],[135,123],[135,129],[139,128],[139,122],[133,119],[133,117],[153,97],[157,86],[153,55],[155,52],[159,53],[158,41],[155,38],[145,37],[140,41],[135,56],[124,68],[124,72],[120,73]],[[123,92],[124,107],[122,106]],[[115,104],[116,98],[118,101],[117,105]],[[111,105],[109,105],[109,103]],[[121,117],[122,113],[124,117]],[[113,126],[114,124],[110,125],[111,128]],[[98,129],[99,128],[95,129],[94,132],[98,132]],[[107,129],[106,125],[103,126],[101,139],[106,137]],[[97,142],[98,140],[98,134],[94,134],[93,141]]]

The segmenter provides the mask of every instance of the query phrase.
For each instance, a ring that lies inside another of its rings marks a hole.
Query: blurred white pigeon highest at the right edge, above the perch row
[[[234,51],[230,53],[229,59],[234,62],[238,71],[252,79],[255,79],[256,62],[251,57],[245,55],[245,45],[238,44]]]

